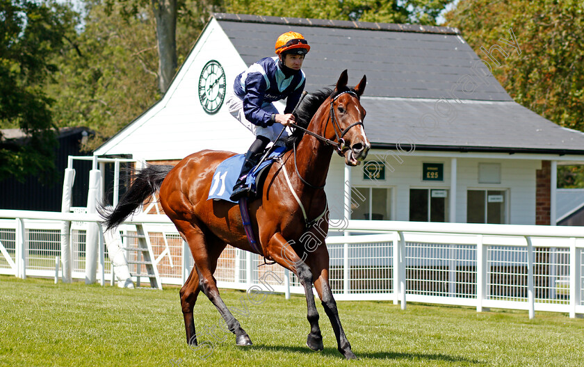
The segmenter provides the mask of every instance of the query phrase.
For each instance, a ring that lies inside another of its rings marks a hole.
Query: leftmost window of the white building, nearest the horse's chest
[[[351,219],[391,220],[391,189],[353,188]]]

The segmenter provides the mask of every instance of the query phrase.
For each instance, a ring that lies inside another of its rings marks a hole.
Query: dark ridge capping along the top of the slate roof
[[[294,26],[318,26],[326,28],[352,28],[366,29],[368,31],[391,31],[412,33],[437,33],[447,35],[460,35],[458,28],[448,26],[422,26],[421,24],[394,24],[378,22],[356,22],[349,20],[293,18],[293,17],[268,17],[263,15],[211,13],[211,17],[227,22],[286,24]]]

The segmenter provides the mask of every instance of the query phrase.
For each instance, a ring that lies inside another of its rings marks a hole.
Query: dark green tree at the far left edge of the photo
[[[22,141],[0,133],[0,180],[30,174],[54,178],[55,124],[42,81],[56,70],[51,57],[72,24],[71,14],[51,1],[0,0],[0,127],[19,128]]]

